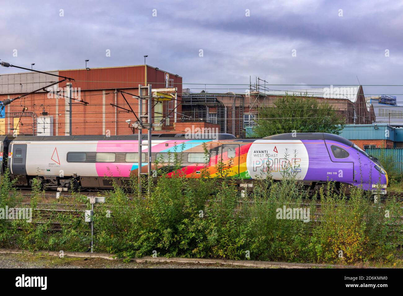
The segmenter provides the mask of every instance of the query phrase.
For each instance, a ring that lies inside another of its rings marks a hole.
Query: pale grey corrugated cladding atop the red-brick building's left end
[[[59,75],[59,71],[48,71],[46,73]],[[56,76],[50,76],[37,72],[24,72],[15,74],[0,75],[0,94],[23,94],[29,93],[46,85],[61,80]],[[49,90],[57,90],[57,84]]]

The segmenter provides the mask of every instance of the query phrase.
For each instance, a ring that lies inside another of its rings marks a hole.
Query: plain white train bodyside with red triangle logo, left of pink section
[[[67,162],[67,152],[96,152],[98,141],[32,141],[27,144],[27,174],[31,176],[98,176],[95,163]],[[12,148],[11,148],[12,149]],[[12,150],[11,150],[12,151]]]

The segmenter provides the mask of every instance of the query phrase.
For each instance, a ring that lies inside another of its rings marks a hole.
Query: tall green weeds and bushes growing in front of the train
[[[317,192],[320,200],[312,199],[297,182],[293,164],[283,171],[282,181],[273,181],[267,172],[254,182],[253,191],[241,194],[228,177],[231,162],[219,161],[216,166],[217,175],[225,179],[209,178],[207,165],[201,172],[204,178],[186,178],[181,150],[166,163],[156,161],[157,181],[144,180],[141,194],[131,194],[138,192],[135,176],[128,181],[129,188],[113,183],[114,189],[104,193],[106,203],[95,209],[95,251],[123,258],[156,255],[341,264],[393,262],[402,255],[398,245],[403,242],[403,213],[395,199],[374,204],[360,188],[347,198],[343,192],[334,193],[330,181],[326,191]],[[167,165],[177,173],[168,177]],[[0,181],[2,206],[17,203],[6,194],[12,191],[12,182],[5,176]],[[82,203],[83,197],[76,201]],[[305,221],[290,219],[279,216],[283,209],[301,209],[309,215]],[[43,218],[42,224],[0,221],[1,247],[88,249],[89,225],[83,215]],[[60,222],[60,231],[52,230],[55,221]]]

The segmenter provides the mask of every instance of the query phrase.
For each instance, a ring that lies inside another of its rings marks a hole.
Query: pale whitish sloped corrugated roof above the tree
[[[270,90],[264,92],[266,95],[284,96],[288,95],[307,95],[309,97],[319,97],[326,99],[348,99],[355,103],[359,86],[346,87],[322,87],[322,88],[306,88],[306,89],[291,89],[291,90]]]

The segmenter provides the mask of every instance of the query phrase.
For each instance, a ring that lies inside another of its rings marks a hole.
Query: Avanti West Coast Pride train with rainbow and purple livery
[[[144,173],[147,143],[147,138],[143,138],[141,172]],[[137,135],[14,139],[3,136],[0,149],[2,171],[7,166],[11,177],[17,179],[16,185],[23,187],[39,177],[49,189],[66,190],[71,184],[73,189],[111,188],[112,178],[122,185],[131,174],[137,175],[139,169]],[[168,175],[174,173],[168,159],[174,151],[182,153],[180,171],[189,178],[201,177],[204,168],[210,177],[222,177],[216,166],[222,161],[224,165],[232,164],[225,177],[239,180],[242,186],[253,184],[267,174],[280,180],[285,171],[312,189],[328,180],[346,190],[353,186],[371,190],[374,185],[386,189],[388,184],[388,175],[376,158],[333,134],[279,134],[262,139],[239,139],[229,134],[217,134],[216,139],[189,139],[185,134],[152,135],[151,160],[162,160]]]

